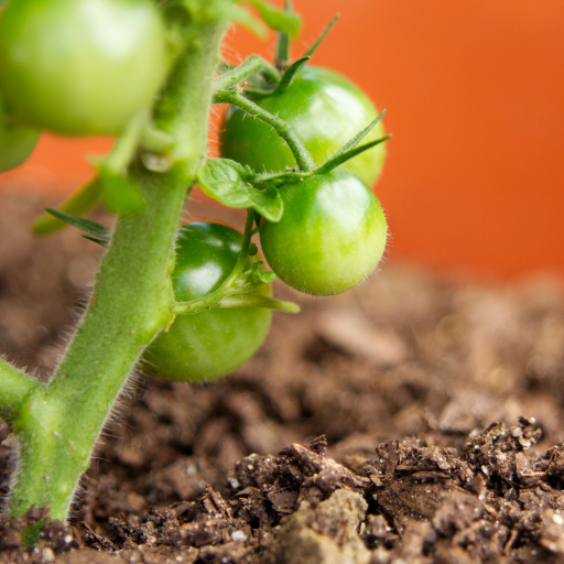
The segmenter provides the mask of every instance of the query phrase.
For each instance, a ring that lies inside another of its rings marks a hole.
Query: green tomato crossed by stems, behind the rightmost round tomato
[[[288,121],[317,165],[333,156],[378,115],[372,102],[341,75],[305,67],[282,94],[254,100],[261,108]],[[382,122],[362,143],[384,135]],[[286,143],[267,123],[230,108],[221,128],[221,156],[249,165],[254,172],[295,167]],[[383,165],[384,144],[355,156],[343,165],[372,186]]]

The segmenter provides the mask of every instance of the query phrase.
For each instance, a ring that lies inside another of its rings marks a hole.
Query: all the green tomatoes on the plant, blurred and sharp
[[[119,134],[151,107],[171,66],[161,9],[154,0],[8,1],[0,12],[0,172],[30,155],[41,130]],[[370,189],[381,173],[384,144],[339,167],[323,165],[378,112],[356,85],[326,68],[301,67],[282,87],[268,88],[245,96],[285,121],[318,169],[262,188],[251,186],[261,193],[240,196],[247,198],[241,207],[252,207],[253,197],[265,205],[274,191],[282,216],[256,220],[274,273],[310,294],[345,292],[368,278],[384,252],[386,217]],[[362,142],[383,134],[379,121]],[[249,119],[236,107],[226,113],[220,153],[240,163],[245,175],[296,167],[286,141],[271,124]],[[235,187],[240,189],[237,183]],[[259,212],[267,214],[264,209]],[[176,301],[215,292],[231,273],[241,246],[241,234],[229,227],[184,226],[172,274]],[[251,272],[254,263],[248,257],[245,271]],[[271,296],[268,283],[248,291],[262,296],[261,304]],[[150,345],[144,366],[171,380],[225,376],[254,354],[270,321],[271,310],[256,306],[178,315]]]

